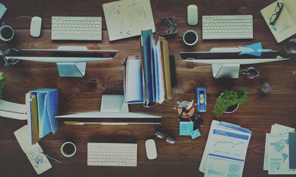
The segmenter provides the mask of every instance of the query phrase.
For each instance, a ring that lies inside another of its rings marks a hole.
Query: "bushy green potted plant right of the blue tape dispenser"
[[[240,87],[238,90],[225,90],[216,100],[214,113],[217,117],[223,113],[234,112],[238,106],[246,103],[248,100],[248,92],[245,88]]]

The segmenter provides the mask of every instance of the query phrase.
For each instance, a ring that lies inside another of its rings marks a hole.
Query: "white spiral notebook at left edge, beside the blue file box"
[[[27,120],[26,112],[26,105],[0,100],[0,116],[2,117]]]

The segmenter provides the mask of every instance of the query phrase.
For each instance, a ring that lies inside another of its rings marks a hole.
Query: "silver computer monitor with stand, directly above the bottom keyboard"
[[[123,95],[103,95],[101,111],[83,112],[77,114],[60,115],[55,118],[62,119],[66,124],[160,124],[161,117],[142,113],[129,112],[128,104]]]

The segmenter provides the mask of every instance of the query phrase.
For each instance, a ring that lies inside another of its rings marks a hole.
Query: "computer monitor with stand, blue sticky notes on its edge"
[[[210,52],[180,52],[182,61],[212,64],[215,78],[238,78],[242,64],[255,64],[288,60],[289,57],[277,52],[262,52],[261,56],[239,55],[239,48],[213,48]]]

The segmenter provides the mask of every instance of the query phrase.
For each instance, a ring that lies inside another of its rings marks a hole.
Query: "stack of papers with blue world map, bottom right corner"
[[[266,134],[263,170],[268,174],[296,174],[296,133],[294,128],[274,124]]]

